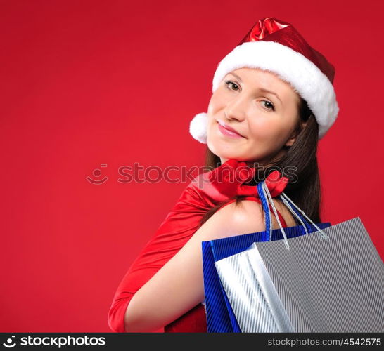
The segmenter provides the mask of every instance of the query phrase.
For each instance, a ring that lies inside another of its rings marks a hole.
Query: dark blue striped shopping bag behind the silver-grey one
[[[215,267],[215,262],[241,251],[245,251],[256,241],[276,241],[283,239],[281,230],[271,230],[271,220],[267,194],[261,185],[258,185],[259,197],[264,209],[266,230],[226,237],[202,242],[203,251],[203,278],[205,293],[205,312],[207,317],[208,333],[241,332],[226,292],[223,289]],[[298,237],[308,232],[313,232],[317,227],[329,227],[331,223],[309,224],[295,207],[287,206],[293,213],[297,226],[285,228],[287,237]],[[276,216],[276,218],[278,218]]]

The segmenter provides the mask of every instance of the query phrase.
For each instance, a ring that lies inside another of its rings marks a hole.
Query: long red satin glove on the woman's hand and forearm
[[[124,275],[113,297],[108,312],[108,325],[115,332],[124,333],[124,315],[132,296],[160,270],[198,230],[200,220],[210,208],[220,201],[231,199],[236,194],[250,192],[250,198],[257,198],[257,187],[243,185],[252,179],[255,168],[247,174],[239,173],[231,178],[235,171],[244,171],[245,163],[234,159],[226,161],[214,170],[196,177],[182,192],[177,204],[168,213],[152,239],[134,260]],[[224,171],[228,174],[224,174]],[[278,171],[272,172],[266,179],[271,196],[278,196],[286,187],[288,178],[279,178]],[[231,178],[231,179],[229,179]],[[193,314],[195,315],[195,314]]]

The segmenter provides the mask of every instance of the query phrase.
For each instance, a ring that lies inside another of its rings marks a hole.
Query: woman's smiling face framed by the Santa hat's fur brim
[[[299,102],[300,95],[276,74],[236,69],[226,74],[210,99],[207,146],[222,163],[237,159],[266,164],[295,141]]]

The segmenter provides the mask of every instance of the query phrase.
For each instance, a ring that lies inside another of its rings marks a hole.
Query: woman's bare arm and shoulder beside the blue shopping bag
[[[255,201],[217,211],[132,297],[124,316],[125,331],[159,329],[204,300],[201,241],[264,229],[261,205]]]

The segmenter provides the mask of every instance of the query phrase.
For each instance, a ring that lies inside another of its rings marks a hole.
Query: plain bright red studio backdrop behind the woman
[[[1,1],[0,331],[110,331],[117,284],[186,187],[120,183],[118,168],[203,165],[189,122],[269,16],[336,67],[323,220],[359,216],[383,257],[379,2]],[[86,180],[96,168],[102,185]]]

